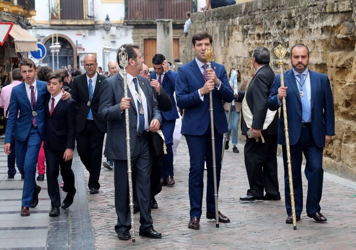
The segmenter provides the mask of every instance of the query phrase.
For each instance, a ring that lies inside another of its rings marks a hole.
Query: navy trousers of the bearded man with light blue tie
[[[284,163],[284,192],[286,197],[286,209],[288,216],[292,215],[290,203],[289,179],[286,146],[282,146]],[[312,128],[302,128],[300,138],[295,145],[290,145],[290,157],[292,160],[292,175],[295,201],[295,215],[300,217],[303,210],[303,184],[302,184],[302,160],[304,153],[307,163],[304,174],[308,180],[307,213],[313,214],[320,211],[321,193],[323,190],[323,148],[319,148],[313,139]]]

